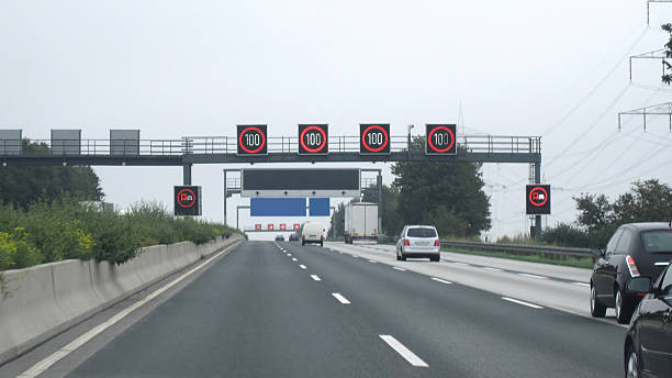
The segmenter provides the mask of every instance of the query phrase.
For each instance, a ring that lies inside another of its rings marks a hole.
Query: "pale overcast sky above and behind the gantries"
[[[641,118],[617,127],[619,111],[670,101],[660,62],[637,60],[630,84],[627,58],[662,48],[667,21],[672,4],[652,4],[647,27],[645,0],[5,1],[0,129],[33,140],[53,127],[180,138],[231,136],[242,123],[267,123],[270,136],[309,122],[356,135],[359,123],[387,122],[401,135],[407,124],[421,133],[424,123],[457,123],[461,104],[469,134],[542,135],[551,225],[574,220],[571,197],[581,192],[614,198],[636,179],[672,181],[665,116],[651,116],[647,132]],[[374,167],[393,179],[389,166]],[[210,220],[223,216],[223,168],[193,168]],[[121,207],[171,204],[182,180],[181,168],[94,169]],[[488,234],[526,232],[528,167],[483,173]]]

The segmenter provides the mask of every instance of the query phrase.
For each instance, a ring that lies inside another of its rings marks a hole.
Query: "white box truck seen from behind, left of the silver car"
[[[378,203],[352,202],[346,205],[345,242],[378,242]]]

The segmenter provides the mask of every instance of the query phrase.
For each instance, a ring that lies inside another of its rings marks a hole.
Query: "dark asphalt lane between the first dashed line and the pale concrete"
[[[625,330],[315,246],[288,247],[436,376],[614,377]],[[449,280],[449,279],[448,279]],[[515,299],[515,298],[514,298]],[[534,303],[534,302],[533,302]]]

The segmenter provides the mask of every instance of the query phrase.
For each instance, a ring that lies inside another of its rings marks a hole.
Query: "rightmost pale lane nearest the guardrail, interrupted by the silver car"
[[[335,243],[345,245],[344,243]],[[394,254],[396,252],[396,246],[389,244],[362,244],[362,245],[352,245],[358,248],[363,248],[368,251],[377,251],[383,254],[391,253]],[[457,263],[466,263],[478,266],[490,266],[494,268],[501,268],[511,271],[517,273],[528,273],[534,275],[542,275],[551,278],[558,278],[565,281],[579,281],[579,282],[590,282],[591,280],[591,269],[584,268],[575,268],[570,266],[561,266],[561,265],[552,265],[552,264],[540,264],[540,263],[530,263],[530,262],[522,262],[514,260],[508,258],[499,258],[499,257],[488,257],[488,256],[479,256],[479,255],[467,255],[459,253],[451,253],[441,251],[441,258],[448,259],[450,262]]]

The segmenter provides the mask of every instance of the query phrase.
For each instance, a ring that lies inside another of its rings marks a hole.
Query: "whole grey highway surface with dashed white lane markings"
[[[587,291],[571,284],[571,269],[557,274],[569,275],[568,282],[516,274],[548,290],[531,301],[534,291],[518,296],[523,284],[512,284],[506,276],[514,274],[505,269],[480,268],[504,282],[482,290],[458,284],[469,273],[450,277],[447,270],[473,267],[387,264],[389,255],[343,244],[246,242],[70,362],[71,369],[56,363],[53,370],[67,377],[623,375],[623,327],[546,305],[555,286]]]

